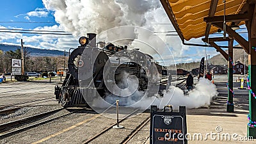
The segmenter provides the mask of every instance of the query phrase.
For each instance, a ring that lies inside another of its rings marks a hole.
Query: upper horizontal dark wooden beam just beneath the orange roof
[[[246,21],[249,20],[249,15],[248,13],[240,13],[236,15],[225,15],[225,21],[226,22],[240,22],[240,21]],[[223,22],[224,21],[224,16],[214,16],[214,17],[204,17],[204,21],[207,23],[211,22]]]

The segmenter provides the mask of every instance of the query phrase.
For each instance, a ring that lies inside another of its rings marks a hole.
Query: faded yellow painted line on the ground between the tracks
[[[77,123],[75,125],[72,125],[71,127],[68,127],[67,129],[63,129],[62,131],[59,131],[59,132],[57,132],[55,134],[51,134],[50,136],[47,136],[46,138],[43,138],[42,140],[36,141],[36,142],[34,142],[32,144],[42,143],[43,141],[46,141],[46,140],[49,140],[50,138],[58,136],[59,134],[62,134],[63,132],[69,131],[70,129],[74,129],[75,127],[77,127],[79,125],[82,125],[82,124],[84,124],[86,122],[89,122],[90,120],[94,120],[95,118],[97,118],[99,116],[100,116],[99,114],[95,115],[92,118],[88,118],[88,119],[84,120],[83,122],[79,122],[79,123]]]

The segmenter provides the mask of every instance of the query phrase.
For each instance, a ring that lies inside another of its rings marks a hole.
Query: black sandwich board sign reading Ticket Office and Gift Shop
[[[171,109],[166,111],[166,108]],[[173,112],[172,106],[164,106],[163,111],[151,106],[150,144],[188,144],[186,139],[186,107],[180,106],[179,112]]]

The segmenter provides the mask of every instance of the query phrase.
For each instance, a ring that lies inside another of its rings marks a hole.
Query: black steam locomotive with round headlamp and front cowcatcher
[[[79,38],[79,44],[69,55],[62,86],[55,86],[54,95],[63,107],[88,106],[97,95],[104,98],[109,85],[118,84],[125,73],[138,78],[140,90],[159,86],[161,76],[166,75],[165,67],[154,63],[152,56],[139,49],[96,43],[94,33]]]

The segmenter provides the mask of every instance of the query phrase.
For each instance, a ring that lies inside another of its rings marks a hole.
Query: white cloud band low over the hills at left
[[[3,26],[0,26],[0,28],[5,29]],[[63,28],[54,25],[38,27],[33,30],[63,31]],[[20,39],[23,39],[23,42],[25,42],[24,46],[39,49],[57,49],[64,51],[64,49],[76,48],[77,45],[79,45],[78,38],[72,35],[24,35],[20,33],[0,32],[1,44],[20,45]]]

